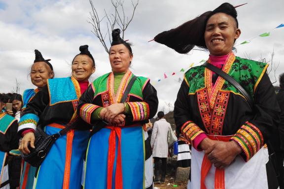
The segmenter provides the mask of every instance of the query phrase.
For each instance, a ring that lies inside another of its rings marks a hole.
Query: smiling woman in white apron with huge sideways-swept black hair
[[[268,153],[263,146],[279,120],[280,109],[266,73],[268,65],[232,52],[240,34],[234,6],[223,3],[154,38],[178,53],[188,53],[195,45],[208,49],[207,63],[233,77],[254,99],[252,108],[239,90],[205,66],[184,74],[174,117],[177,133],[193,146],[191,189],[277,185],[275,173],[267,173],[271,162],[266,169]]]

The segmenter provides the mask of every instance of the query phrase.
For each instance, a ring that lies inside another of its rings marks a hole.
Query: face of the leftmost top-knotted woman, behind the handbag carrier
[[[51,68],[45,62],[34,63],[31,69],[31,80],[32,83],[42,88],[46,85],[47,79],[53,78],[54,73]]]

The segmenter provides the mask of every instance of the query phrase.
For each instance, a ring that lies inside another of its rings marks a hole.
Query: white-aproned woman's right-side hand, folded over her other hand
[[[219,141],[205,151],[211,163],[219,169],[229,166],[241,152],[241,147],[235,141]]]

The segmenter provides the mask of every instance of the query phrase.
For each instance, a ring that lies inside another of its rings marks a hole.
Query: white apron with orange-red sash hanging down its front
[[[221,141],[222,139],[220,138],[224,136],[214,137],[215,140]],[[225,137],[230,138],[232,136]],[[192,148],[191,182],[188,183],[187,189],[204,189],[201,187],[201,167],[204,156],[204,151],[199,152]],[[248,162],[245,162],[243,158],[237,156],[235,162],[226,167],[224,172],[219,169],[216,171],[216,168],[212,165],[205,177],[204,184],[206,189],[268,189],[266,174],[268,158],[268,150],[262,147]],[[205,168],[206,166],[203,167],[203,170],[205,170]]]

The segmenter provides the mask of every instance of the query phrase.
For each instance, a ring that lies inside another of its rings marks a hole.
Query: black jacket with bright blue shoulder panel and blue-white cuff
[[[28,128],[36,129],[37,125],[68,124],[78,106],[80,95],[80,86],[73,77],[48,79],[47,85],[23,110],[18,132]],[[87,129],[90,126],[79,119],[75,127]]]

